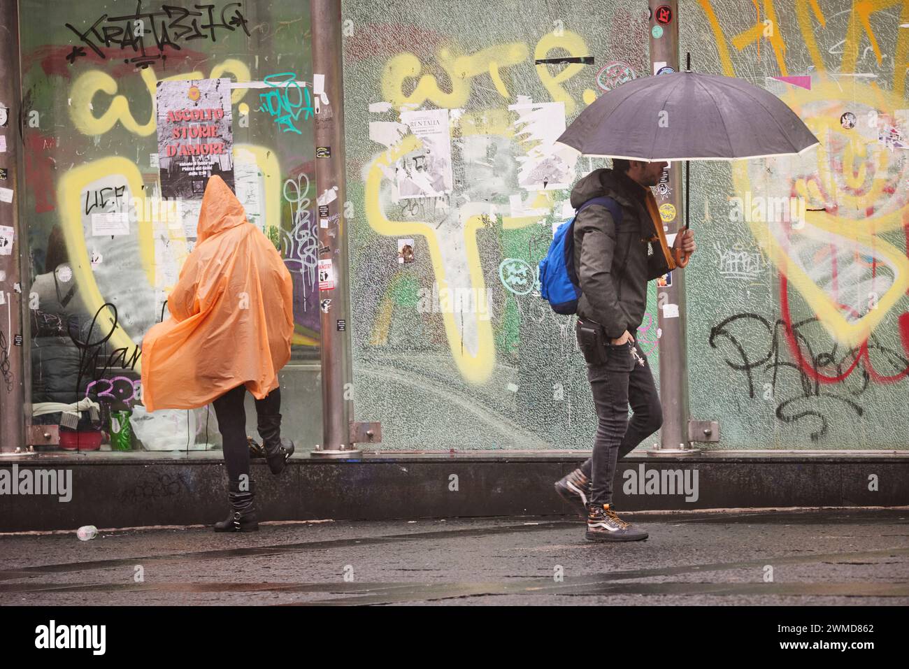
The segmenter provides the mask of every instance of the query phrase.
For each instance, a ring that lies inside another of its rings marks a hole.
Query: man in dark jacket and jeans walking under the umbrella
[[[558,494],[584,509],[586,537],[592,541],[647,538],[615,514],[613,479],[618,459],[663,424],[637,328],[644,318],[647,282],[676,269],[650,190],[666,165],[614,159],[613,169],[584,176],[571,195],[575,209],[595,197],[614,201],[613,207],[589,205],[574,220],[574,272],[581,287],[576,335],[599,424],[593,457],[555,483]],[[694,249],[693,232],[676,235],[674,251],[691,255]]]

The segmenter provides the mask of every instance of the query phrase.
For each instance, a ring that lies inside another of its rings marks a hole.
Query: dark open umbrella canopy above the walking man
[[[584,109],[556,141],[583,155],[646,161],[763,158],[819,144],[772,93],[696,72],[621,85]]]

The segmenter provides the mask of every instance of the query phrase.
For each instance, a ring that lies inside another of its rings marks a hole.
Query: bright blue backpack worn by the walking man
[[[622,207],[611,197],[602,195],[587,200],[569,220],[559,225],[546,257],[540,261],[540,293],[556,314],[577,313],[581,287],[574,274],[574,220],[588,206],[606,207],[616,224],[622,222]]]

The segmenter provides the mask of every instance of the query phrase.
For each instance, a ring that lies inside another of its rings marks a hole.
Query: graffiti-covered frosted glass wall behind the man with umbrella
[[[694,69],[764,86],[821,140],[692,165],[693,417],[723,448],[904,448],[909,3],[680,5]],[[536,266],[571,185],[608,166],[554,138],[651,74],[646,6],[345,2],[343,19],[357,413],[385,447],[589,447],[574,322]]]

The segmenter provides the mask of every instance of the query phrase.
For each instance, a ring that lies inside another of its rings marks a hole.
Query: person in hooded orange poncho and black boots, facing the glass
[[[278,371],[294,334],[292,280],[220,176],[205,187],[197,235],[167,298],[170,318],[142,344],[143,403],[149,412],[215,405],[231,504],[215,532],[255,532],[244,399],[247,390],[255,397],[268,464],[280,474],[294,453],[294,443],[281,438],[278,413]]]

